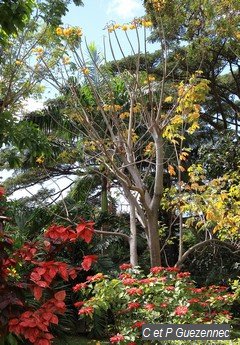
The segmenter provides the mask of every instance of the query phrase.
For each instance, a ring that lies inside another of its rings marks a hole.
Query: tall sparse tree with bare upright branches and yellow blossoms
[[[174,169],[171,170],[165,146],[169,142],[175,145],[180,160],[187,156],[183,142],[186,134],[198,128],[200,104],[207,95],[208,81],[201,77],[201,71],[196,71],[173,85],[172,94],[168,94],[170,52],[161,26],[163,73],[156,78],[147,64],[146,70],[140,71],[140,52],[147,49],[146,35],[151,26],[149,19],[140,18],[107,27],[117,73],[96,63],[91,49],[84,47],[82,29],[77,27],[58,27],[48,52],[40,55],[38,63],[47,80],[65,92],[63,116],[76,124],[86,160],[91,159],[110,172],[128,200],[132,263],[137,264],[137,218],[145,230],[151,265],[156,266],[161,263],[158,215],[163,178]],[[130,38],[133,33],[136,46]],[[134,56],[131,71],[122,70],[115,57],[114,40],[122,57],[127,55],[119,35],[125,37]],[[140,35],[144,37],[142,41]],[[178,168],[183,169],[180,163]],[[147,182],[149,177],[151,184]]]

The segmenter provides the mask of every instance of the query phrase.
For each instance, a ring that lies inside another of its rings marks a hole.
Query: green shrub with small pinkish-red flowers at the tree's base
[[[196,288],[189,272],[176,267],[153,267],[147,276],[130,264],[120,266],[117,279],[102,274],[88,277],[74,291],[81,317],[111,310],[110,343],[141,344],[145,323],[228,323],[234,295],[225,286]]]

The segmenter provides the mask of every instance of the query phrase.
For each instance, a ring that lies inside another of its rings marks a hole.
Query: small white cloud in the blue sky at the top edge
[[[108,15],[117,15],[122,19],[132,19],[140,15],[140,12],[143,12],[140,0],[112,0],[107,8]]]

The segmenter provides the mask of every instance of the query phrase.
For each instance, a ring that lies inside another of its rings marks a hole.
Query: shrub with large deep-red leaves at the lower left
[[[0,198],[5,202],[3,188]],[[85,255],[80,267],[71,267],[54,258],[72,242],[81,239],[89,243],[93,233],[93,222],[82,221],[75,229],[54,224],[44,232],[42,240],[24,243],[15,250],[12,238],[0,231],[1,339],[11,332],[35,345],[51,344],[49,328],[58,324],[58,315],[66,310],[66,291],[59,291],[58,281],[75,279],[79,271],[88,271],[97,261],[96,255]],[[29,292],[38,303],[28,303]],[[90,312],[91,307],[86,307],[85,313]]]

